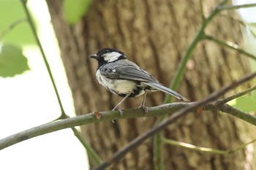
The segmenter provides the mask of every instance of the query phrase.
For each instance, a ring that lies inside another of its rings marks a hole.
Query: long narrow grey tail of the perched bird
[[[165,93],[168,93],[170,94],[171,96],[174,96],[180,100],[183,100],[183,101],[189,101],[187,98],[185,98],[184,96],[181,96],[179,93],[177,93],[176,91],[173,91],[171,90],[170,88],[166,88],[165,86],[163,85],[160,85],[159,83],[157,82],[143,82],[145,83],[146,85],[152,87],[152,88],[156,88],[157,90],[161,90]]]

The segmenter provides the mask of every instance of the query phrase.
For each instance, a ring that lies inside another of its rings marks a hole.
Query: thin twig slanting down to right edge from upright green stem
[[[218,45],[221,45],[223,47],[228,47],[232,50],[236,50],[238,53],[241,53],[241,54],[244,54],[246,55],[247,57],[249,58],[252,58],[253,60],[256,60],[256,56],[251,54],[251,53],[247,53],[245,50],[241,49],[238,47],[238,45],[234,44],[233,42],[224,42],[220,39],[217,39],[215,38],[214,36],[208,36],[208,35],[205,35],[204,36],[205,39],[208,39],[212,42],[216,42]]]

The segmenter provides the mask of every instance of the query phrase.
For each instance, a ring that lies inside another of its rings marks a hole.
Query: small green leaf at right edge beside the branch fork
[[[256,112],[256,101],[250,96],[241,96],[236,98],[236,102],[232,105],[244,112]]]

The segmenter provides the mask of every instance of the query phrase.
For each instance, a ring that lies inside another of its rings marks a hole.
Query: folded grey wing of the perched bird
[[[110,79],[158,82],[151,74],[127,60],[108,63],[100,67],[100,73]]]

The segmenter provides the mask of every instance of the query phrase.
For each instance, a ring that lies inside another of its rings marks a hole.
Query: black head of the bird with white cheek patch
[[[99,63],[99,66],[102,66],[104,63],[112,63],[114,61],[127,58],[123,52],[117,50],[116,48],[103,48],[96,54],[90,55],[89,57],[96,59]]]

